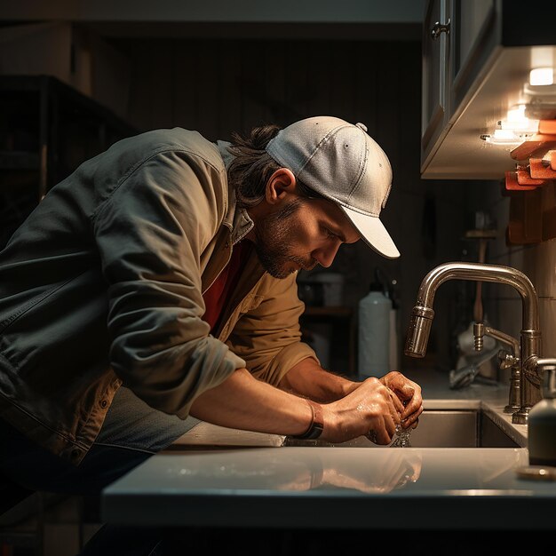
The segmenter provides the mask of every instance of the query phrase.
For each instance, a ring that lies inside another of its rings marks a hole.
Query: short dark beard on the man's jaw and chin
[[[295,199],[255,225],[255,251],[258,260],[274,278],[287,278],[296,272],[298,267],[313,270],[318,264],[314,258],[299,257],[291,253],[291,238],[294,235],[292,217],[302,203],[305,203],[303,199]],[[290,263],[296,267],[291,268]]]

